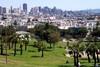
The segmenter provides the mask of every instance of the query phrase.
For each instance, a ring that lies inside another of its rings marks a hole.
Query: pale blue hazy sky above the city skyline
[[[0,6],[19,7],[27,3],[28,9],[35,6],[56,6],[63,10],[83,10],[100,8],[100,0],[0,0]]]

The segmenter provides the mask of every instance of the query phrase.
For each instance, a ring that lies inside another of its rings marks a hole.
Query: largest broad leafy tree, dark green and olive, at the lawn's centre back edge
[[[35,35],[39,37],[41,40],[45,40],[47,43],[51,44],[53,43],[53,46],[56,42],[60,39],[59,35],[59,29],[53,25],[50,25],[49,23],[46,23],[44,25],[38,25],[35,27]],[[55,38],[54,38],[54,37]]]

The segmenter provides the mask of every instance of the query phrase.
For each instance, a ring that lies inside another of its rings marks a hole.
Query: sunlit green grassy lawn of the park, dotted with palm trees
[[[42,58],[41,52],[38,52],[33,42],[29,43],[27,51],[23,47],[23,55],[20,55],[19,45],[17,46],[16,56],[13,56],[13,49],[8,50],[7,64],[5,62],[5,55],[0,55],[0,67],[74,67],[73,58],[64,56],[67,53],[63,48],[66,43],[57,43],[54,50],[48,48],[44,51],[44,57]],[[68,64],[66,64],[66,60],[69,61]],[[93,61],[92,63],[87,63],[86,59],[80,59],[80,62],[82,67],[93,67]]]

